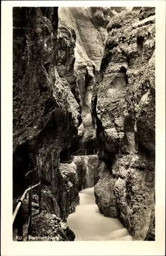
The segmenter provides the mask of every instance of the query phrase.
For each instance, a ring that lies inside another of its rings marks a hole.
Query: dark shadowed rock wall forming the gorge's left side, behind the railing
[[[76,169],[59,164],[63,148],[81,136],[75,40],[73,30],[58,31],[57,7],[13,8],[13,196],[38,166],[43,208],[64,221],[79,200]]]

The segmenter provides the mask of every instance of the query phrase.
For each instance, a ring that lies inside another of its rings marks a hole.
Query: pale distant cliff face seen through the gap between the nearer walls
[[[74,29],[77,38],[74,68],[81,95],[84,126],[84,135],[78,147],[97,148],[96,131],[91,119],[91,97],[104,53],[110,15],[114,15],[110,8],[103,7],[59,8],[61,23]]]

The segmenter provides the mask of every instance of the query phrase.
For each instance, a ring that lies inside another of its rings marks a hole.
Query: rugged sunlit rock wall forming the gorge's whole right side
[[[92,112],[104,161],[94,187],[99,209],[134,240],[154,240],[155,8],[112,18]]]

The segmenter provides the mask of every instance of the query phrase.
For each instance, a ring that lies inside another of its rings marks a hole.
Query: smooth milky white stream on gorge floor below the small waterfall
[[[75,233],[75,241],[132,240],[120,221],[100,214],[93,187],[83,189],[79,196],[80,205],[67,218],[67,225]]]

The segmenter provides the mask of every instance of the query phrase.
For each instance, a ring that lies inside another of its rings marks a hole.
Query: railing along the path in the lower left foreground
[[[30,172],[32,172],[32,171],[30,171]],[[28,172],[28,174],[30,172]],[[27,176],[28,174],[26,174],[26,177],[28,177]],[[37,187],[37,186],[39,187],[39,191],[38,191],[39,209],[34,214],[32,214],[32,189]],[[23,233],[23,200],[25,200],[27,198],[27,193],[29,193],[29,197],[28,197],[28,227],[26,228],[25,232]],[[31,228],[32,216],[37,215],[41,212],[41,181],[39,181],[35,185],[29,186],[29,188],[27,188],[24,191],[22,197],[20,199],[18,199],[17,202],[18,202],[18,204],[17,204],[17,206],[14,210],[14,213],[13,213],[13,224],[14,224],[14,221],[16,219],[17,241],[23,241],[23,236],[25,235],[27,229],[28,229],[28,234],[32,233],[32,228]]]

